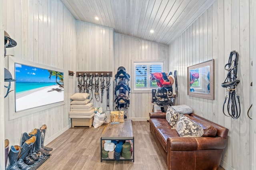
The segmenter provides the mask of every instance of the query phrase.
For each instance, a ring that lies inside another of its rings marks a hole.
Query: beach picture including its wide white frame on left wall
[[[9,59],[11,84],[10,119],[64,104],[64,71],[51,66]]]

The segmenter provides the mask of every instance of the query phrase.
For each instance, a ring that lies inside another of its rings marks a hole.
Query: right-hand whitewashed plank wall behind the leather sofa
[[[252,1],[252,0],[251,0]],[[229,129],[228,145],[222,166],[225,169],[252,169],[251,128],[247,110],[252,103],[252,57],[250,55],[250,0],[218,0],[170,45],[169,69],[178,70],[177,104],[187,104],[194,112]],[[255,25],[255,23],[254,23]],[[252,30],[251,30],[252,31]],[[239,53],[237,94],[241,115],[238,119],[224,116],[222,106],[226,78],[224,65],[230,51]],[[254,57],[255,58],[255,57]],[[215,100],[187,95],[187,67],[210,59],[215,60]],[[252,115],[252,112],[250,112]]]

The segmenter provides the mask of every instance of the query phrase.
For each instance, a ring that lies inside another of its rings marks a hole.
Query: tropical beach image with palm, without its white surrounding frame
[[[64,101],[63,72],[15,63],[15,111]]]

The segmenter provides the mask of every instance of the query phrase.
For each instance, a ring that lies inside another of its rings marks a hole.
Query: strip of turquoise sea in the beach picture
[[[56,82],[38,83],[38,82],[15,82],[16,93],[22,93],[36,88],[56,85]]]

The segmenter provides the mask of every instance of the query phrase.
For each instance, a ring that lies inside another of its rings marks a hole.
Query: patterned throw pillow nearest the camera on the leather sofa
[[[202,137],[204,134],[204,129],[200,125],[194,123],[183,114],[180,114],[176,131],[180,137]]]

